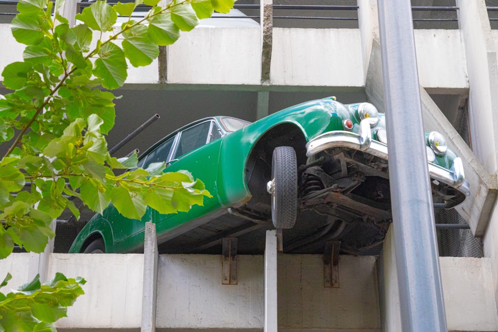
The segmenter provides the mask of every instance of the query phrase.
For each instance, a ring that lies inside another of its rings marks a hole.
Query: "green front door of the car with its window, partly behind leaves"
[[[184,129],[179,135],[166,172],[187,170],[192,173],[194,179],[204,182],[206,189],[213,197],[216,197],[218,194],[218,160],[222,141],[218,138],[223,135],[220,127],[214,120],[207,120]],[[205,203],[206,200],[209,198],[205,198]],[[203,209],[204,207],[200,206],[192,207],[196,215],[202,214]],[[193,215],[191,212],[160,215],[153,211],[152,214],[155,214],[156,223],[162,223],[157,226],[159,232],[189,221]],[[166,220],[167,222],[163,222]]]

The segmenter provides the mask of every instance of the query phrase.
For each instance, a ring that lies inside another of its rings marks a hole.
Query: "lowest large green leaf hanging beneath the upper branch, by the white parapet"
[[[126,60],[121,48],[113,43],[102,45],[99,59],[95,61],[94,74],[102,79],[102,86],[107,89],[117,89],[126,80]]]

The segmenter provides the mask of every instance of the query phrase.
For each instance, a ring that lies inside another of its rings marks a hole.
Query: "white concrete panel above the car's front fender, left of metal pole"
[[[363,87],[360,30],[273,28],[270,83]]]

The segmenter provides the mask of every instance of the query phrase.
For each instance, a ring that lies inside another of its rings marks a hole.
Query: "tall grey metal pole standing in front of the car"
[[[377,3],[402,331],[446,332],[411,5]]]

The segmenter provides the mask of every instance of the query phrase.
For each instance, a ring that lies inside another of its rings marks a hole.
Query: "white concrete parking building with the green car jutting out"
[[[66,2],[68,12],[74,12],[74,0]],[[160,121],[124,145],[122,155],[135,148],[144,150],[201,117],[231,115],[253,121],[327,96],[345,104],[369,101],[389,113],[383,106],[376,1],[334,1],[353,10],[315,8],[297,13],[273,6],[296,1],[242,3],[260,4],[256,9],[241,9],[262,17],[260,24],[211,27],[206,23],[164,48],[152,65],[130,67],[117,93],[123,98],[116,101],[110,146],[155,113],[161,115]],[[313,2],[325,3],[330,4]],[[498,331],[498,26],[494,11],[498,2],[420,0],[413,5],[451,7],[413,13],[422,112],[424,129],[444,133],[449,146],[463,158],[472,192],[456,213],[438,216],[470,225],[470,230],[455,233],[458,238],[453,243],[445,231],[439,231],[448,329]],[[277,18],[306,15],[354,19]],[[1,22],[0,70],[20,59],[23,50],[6,20]],[[379,256],[339,257],[334,271],[339,287],[324,287],[322,255],[277,254],[275,232],[266,236],[265,255],[237,256],[237,282],[229,285],[223,284],[220,255],[159,255],[157,309],[152,314],[158,331],[255,332],[277,327],[281,332],[401,331],[392,231]],[[57,271],[85,277],[89,281],[86,295],[68,310],[67,318],[57,322],[59,331],[140,329],[142,304],[150,301],[142,296],[142,285],[150,282],[144,280],[148,267],[143,254],[50,251],[12,254],[0,261],[0,276],[8,271],[14,276],[9,283],[12,289],[38,271],[48,278]]]

